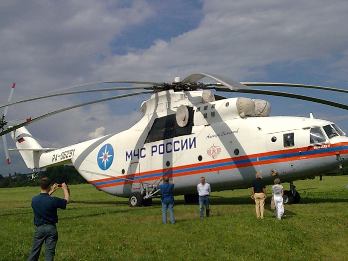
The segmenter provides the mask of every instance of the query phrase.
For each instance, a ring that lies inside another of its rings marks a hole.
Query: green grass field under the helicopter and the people
[[[174,225],[162,224],[159,199],[131,208],[128,199],[71,185],[72,203],[58,213],[55,261],[347,260],[347,183],[347,176],[296,181],[301,203],[285,205],[282,220],[274,218],[269,198],[264,220],[256,219],[250,189],[213,192],[211,217],[204,219],[198,205],[177,196]],[[39,192],[0,189],[0,261],[27,259],[34,232],[30,200]]]

